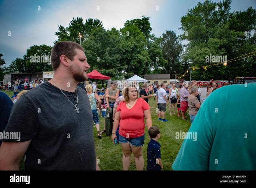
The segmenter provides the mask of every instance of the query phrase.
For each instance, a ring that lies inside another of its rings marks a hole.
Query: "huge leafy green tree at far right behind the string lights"
[[[256,10],[230,12],[231,0],[214,3],[210,0],[197,3],[195,8],[181,18],[182,39],[189,41],[187,60],[191,66],[215,64],[206,61],[207,55],[227,55],[227,60],[256,51],[252,30],[256,26]],[[227,66],[211,66],[207,70],[196,69],[193,79],[209,80],[255,75],[255,57],[249,57]]]

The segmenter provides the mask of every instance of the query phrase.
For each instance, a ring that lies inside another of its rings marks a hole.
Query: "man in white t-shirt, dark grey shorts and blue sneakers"
[[[168,105],[168,100],[167,100],[167,93],[165,91],[166,85],[161,84],[160,88],[157,91],[158,94],[158,120],[161,122],[167,122],[168,120],[165,119],[165,111],[166,111],[166,106]],[[161,118],[162,116],[162,118]]]

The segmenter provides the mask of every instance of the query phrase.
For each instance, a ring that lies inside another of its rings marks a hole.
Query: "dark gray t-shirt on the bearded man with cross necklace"
[[[49,82],[28,91],[13,106],[5,132],[20,132],[20,141],[32,139],[26,170],[96,170],[90,101],[82,88],[77,91],[79,114]],[[76,104],[76,92],[63,92]]]

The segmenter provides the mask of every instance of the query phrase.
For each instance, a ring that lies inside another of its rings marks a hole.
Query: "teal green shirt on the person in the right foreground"
[[[256,170],[256,83],[212,92],[188,132],[173,170]]]

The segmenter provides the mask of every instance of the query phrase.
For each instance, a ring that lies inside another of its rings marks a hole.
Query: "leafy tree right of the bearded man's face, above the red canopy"
[[[87,61],[91,68],[98,69],[102,74],[117,78],[122,76],[120,73],[121,35],[116,28],[106,31],[102,27],[93,30],[89,39],[82,43]]]

